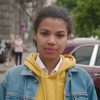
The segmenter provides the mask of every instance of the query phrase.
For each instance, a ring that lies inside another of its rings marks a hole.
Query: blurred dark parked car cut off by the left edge
[[[9,47],[6,40],[0,38],[0,63],[4,63],[7,59]]]

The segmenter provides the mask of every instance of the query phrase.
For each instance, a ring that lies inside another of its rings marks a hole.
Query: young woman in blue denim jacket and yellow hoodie
[[[48,6],[34,22],[38,54],[6,72],[0,83],[0,100],[97,100],[92,79],[75,66],[75,58],[61,55],[71,21],[65,8]]]

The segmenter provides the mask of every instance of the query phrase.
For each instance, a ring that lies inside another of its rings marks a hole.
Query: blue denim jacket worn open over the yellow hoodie
[[[38,78],[24,65],[8,70],[0,82],[0,100],[35,100]],[[97,100],[92,79],[73,67],[66,74],[64,100]]]

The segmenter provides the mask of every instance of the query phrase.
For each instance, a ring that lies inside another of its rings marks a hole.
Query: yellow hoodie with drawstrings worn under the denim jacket
[[[31,54],[24,62],[39,78],[39,87],[35,100],[64,100],[66,70],[74,65],[74,57],[71,55],[61,56],[62,63],[60,68],[58,72],[52,75],[47,75],[41,70],[35,62],[36,57],[37,54]]]

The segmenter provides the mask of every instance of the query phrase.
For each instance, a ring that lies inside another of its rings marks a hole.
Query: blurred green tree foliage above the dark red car
[[[100,0],[57,0],[68,8],[78,36],[100,37]]]

